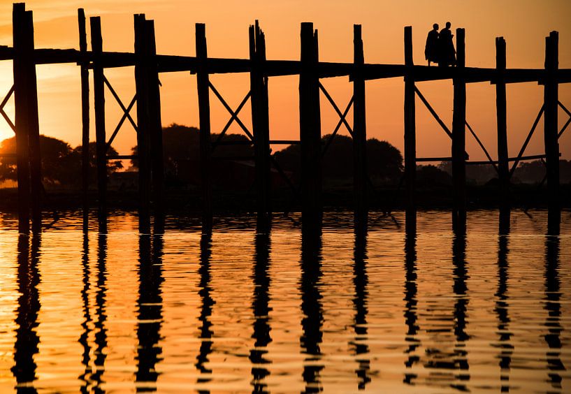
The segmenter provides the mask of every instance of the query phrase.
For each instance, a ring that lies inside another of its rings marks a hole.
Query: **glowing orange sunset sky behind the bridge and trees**
[[[78,48],[77,8],[86,15],[101,15],[103,49],[133,50],[133,13],[146,13],[155,20],[157,52],[194,55],[194,23],[205,22],[208,52],[212,57],[248,57],[248,25],[258,19],[266,33],[268,59],[299,58],[299,24],[314,22],[319,29],[320,59],[352,61],[352,25],[363,25],[365,59],[370,63],[403,62],[403,27],[412,25],[414,61],[425,64],[424,41],[434,22],[441,26],[451,21],[452,29],[466,29],[467,66],[495,66],[496,36],[507,41],[507,66],[542,68],[544,37],[559,31],[559,66],[571,68],[571,2],[566,0],[535,1],[138,1],[138,0],[35,0],[27,1],[34,10],[36,48]],[[10,1],[0,3],[0,45],[11,45]],[[89,23],[88,23],[89,29]],[[89,37],[88,37],[89,42]],[[10,61],[0,62],[0,94],[12,84]],[[75,146],[81,140],[79,69],[73,64],[38,66],[38,100],[41,133],[62,138]],[[135,87],[133,68],[106,71],[125,105]],[[236,108],[249,87],[248,75],[215,75],[212,83],[226,101]],[[162,74],[161,101],[164,125],[173,122],[198,125],[196,77],[188,73]],[[322,80],[338,105],[345,108],[352,93],[347,78]],[[419,82],[421,92],[431,102],[444,122],[451,125],[452,87],[450,81]],[[403,78],[367,82],[368,137],[388,140],[403,149]],[[516,156],[538,110],[543,89],[534,83],[510,85],[508,98],[509,154]],[[561,85],[560,101],[571,108],[571,86]],[[107,130],[110,134],[122,113],[107,92]],[[489,83],[468,85],[467,120],[496,156],[495,88]],[[222,129],[229,115],[217,99],[211,97],[212,132]],[[13,116],[13,101],[6,105]],[[338,119],[322,97],[323,134],[331,133]],[[131,111],[133,117],[136,110]],[[349,120],[351,120],[349,112]],[[250,106],[241,112],[248,126]],[[272,139],[298,138],[298,78],[270,79],[270,133]],[[560,111],[560,124],[568,119]],[[0,119],[1,120],[1,119]],[[93,120],[93,115],[92,115]],[[232,132],[240,132],[233,126]],[[526,154],[543,153],[543,123]],[[341,133],[347,134],[342,130]],[[0,139],[12,132],[0,122]],[[92,124],[92,140],[94,128]],[[135,145],[135,133],[126,122],[115,139],[114,147],[129,154]],[[560,140],[563,157],[571,159],[571,131]],[[279,149],[280,147],[275,147]],[[470,159],[485,159],[475,140],[467,136]],[[417,100],[417,155],[448,156],[449,138]]]

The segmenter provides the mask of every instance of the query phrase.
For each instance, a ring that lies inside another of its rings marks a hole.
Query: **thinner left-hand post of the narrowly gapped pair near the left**
[[[87,54],[87,33],[85,12],[78,9],[79,50]],[[83,228],[87,231],[89,219],[89,68],[87,61],[81,61],[81,185]]]

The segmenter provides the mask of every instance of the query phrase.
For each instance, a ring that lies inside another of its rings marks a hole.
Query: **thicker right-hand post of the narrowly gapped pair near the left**
[[[101,18],[90,17],[91,44],[93,59],[93,94],[95,108],[95,138],[97,164],[97,199],[99,232],[107,232],[107,142],[105,132],[105,86],[103,85],[103,38],[101,37]]]

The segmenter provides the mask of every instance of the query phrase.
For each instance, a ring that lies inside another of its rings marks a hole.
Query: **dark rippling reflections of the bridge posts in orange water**
[[[522,327],[518,326],[529,317],[521,315],[522,294],[510,289],[512,285],[518,286],[518,280],[509,280],[509,275],[517,275],[517,272],[508,263],[510,254],[508,234],[498,234],[497,242],[496,239],[491,240],[492,244],[495,242],[497,245],[497,263],[491,263],[492,266],[497,267],[497,284],[489,284],[487,291],[494,292],[494,299],[489,302],[489,307],[492,308],[489,310],[493,310],[494,314],[491,314],[489,319],[482,320],[476,316],[482,313],[482,305],[471,306],[470,298],[475,297],[476,303],[482,302],[482,294],[486,291],[477,293],[469,288],[468,282],[470,275],[474,275],[472,272],[476,272],[475,275],[482,275],[482,272],[478,271],[480,267],[475,262],[482,263],[483,260],[470,261],[467,257],[469,242],[466,236],[448,237],[446,241],[448,246],[439,251],[442,253],[448,247],[451,250],[450,264],[442,265],[438,270],[446,272],[447,283],[452,285],[449,288],[447,284],[444,284],[440,289],[444,293],[440,297],[438,294],[435,296],[434,289],[428,289],[431,294],[424,293],[427,288],[423,286],[426,286],[427,280],[431,280],[428,279],[431,272],[419,272],[419,265],[423,266],[421,259],[426,254],[422,250],[417,251],[419,237],[415,233],[403,233],[404,251],[400,254],[404,261],[401,270],[404,276],[400,277],[403,281],[400,282],[403,283],[400,293],[403,301],[400,303],[402,314],[395,315],[404,328],[399,331],[399,335],[403,337],[395,344],[388,344],[385,347],[379,343],[380,321],[378,320],[379,314],[384,311],[378,309],[378,303],[373,307],[375,310],[370,311],[373,309],[370,304],[375,303],[370,293],[374,293],[373,297],[378,296],[379,289],[375,289],[375,286],[388,283],[388,281],[384,282],[385,279],[379,277],[370,278],[372,269],[375,274],[382,271],[378,270],[379,262],[369,257],[372,247],[368,242],[369,235],[370,233],[368,234],[364,227],[356,228],[354,231],[353,266],[347,270],[349,277],[352,277],[352,282],[349,282],[352,286],[347,289],[347,298],[343,301],[347,302],[347,305],[350,305],[349,309],[352,310],[352,314],[347,314],[350,323],[345,325],[341,337],[341,340],[348,341],[349,346],[346,351],[351,360],[348,369],[343,373],[349,374],[354,371],[352,384],[355,385],[355,389],[376,387],[373,386],[375,380],[386,378],[377,370],[380,365],[387,367],[379,356],[380,353],[392,349],[404,362],[400,372],[402,372],[403,384],[407,385],[468,391],[481,383],[472,380],[482,379],[478,371],[482,373],[479,368],[482,367],[483,360],[479,357],[484,355],[488,356],[486,360],[489,359],[486,361],[486,368],[489,368],[492,374],[493,371],[497,371],[497,374],[493,374],[497,376],[497,380],[487,382],[489,387],[509,391],[510,387],[515,388],[521,384],[519,372],[522,368],[527,373],[539,367],[547,374],[547,377],[541,378],[542,382],[555,391],[561,391],[562,381],[566,376],[562,335],[565,319],[562,313],[563,302],[568,295],[562,291],[560,283],[560,238],[545,235],[544,240],[540,240],[540,243],[544,245],[544,249],[539,251],[544,256],[544,265],[538,265],[537,273],[543,275],[544,282],[539,283],[535,290],[537,298],[534,298],[531,304],[526,304],[534,305],[533,302],[537,302],[537,310],[530,315],[535,316],[536,321],[529,323],[530,330],[534,333],[529,337],[525,335]],[[199,340],[194,349],[196,351],[194,367],[196,367],[198,377],[190,375],[189,381],[181,382],[190,386],[194,384],[198,391],[204,393],[210,392],[211,385],[215,388],[217,379],[224,376],[220,373],[224,365],[213,363],[212,358],[221,353],[230,356],[227,349],[224,349],[224,344],[218,342],[224,338],[217,337],[215,334],[217,328],[222,328],[224,320],[212,319],[213,313],[217,313],[216,309],[219,307],[224,309],[224,307],[217,305],[212,298],[212,291],[220,291],[220,289],[213,288],[215,282],[212,282],[211,275],[216,272],[211,272],[213,270],[211,260],[219,258],[216,256],[219,249],[215,249],[213,253],[211,237],[212,233],[202,234],[198,263],[194,265],[199,279],[196,287],[198,292],[196,311],[198,313],[189,321],[195,319],[198,329],[194,331]],[[327,337],[332,333],[331,319],[335,319],[335,316],[339,318],[338,311],[329,309],[332,305],[332,294],[331,290],[329,292],[326,290],[326,285],[330,280],[327,278],[331,272],[324,275],[324,271],[330,270],[331,267],[324,269],[323,262],[330,259],[331,255],[325,258],[327,252],[322,249],[331,247],[331,245],[324,245],[324,237],[319,229],[317,231],[313,228],[302,230],[299,250],[301,261],[298,264],[300,276],[296,286],[298,290],[296,297],[299,299],[294,306],[299,309],[300,320],[288,321],[287,326],[283,326],[284,321],[275,319],[273,314],[273,305],[275,305],[273,294],[279,294],[279,284],[275,285],[274,282],[279,282],[279,280],[274,281],[272,278],[275,277],[272,277],[269,272],[270,259],[273,255],[273,249],[270,248],[271,235],[256,233],[252,234],[252,237],[255,245],[252,265],[244,267],[251,274],[249,276],[253,285],[251,304],[244,308],[246,315],[236,316],[245,321],[245,327],[251,327],[250,342],[247,345],[249,353],[236,349],[236,356],[244,360],[246,367],[251,367],[252,392],[269,391],[273,387],[269,385],[269,382],[273,382],[272,379],[276,377],[274,375],[280,377],[284,372],[301,372],[297,383],[303,384],[304,392],[322,391],[327,379],[331,379],[331,374],[340,372],[338,366],[333,365],[332,362],[338,348],[331,346],[331,337]],[[15,246],[18,251],[16,281],[20,297],[17,298],[15,310],[15,351],[12,372],[18,392],[35,392],[36,387],[43,387],[41,381],[38,386],[34,383],[38,379],[41,380],[42,372],[36,360],[40,359],[43,363],[42,367],[46,367],[44,357],[38,358],[37,355],[46,351],[45,346],[43,348],[40,346],[43,342],[52,343],[50,341],[54,340],[50,337],[53,333],[49,330],[38,330],[38,326],[41,326],[45,319],[45,316],[42,318],[41,314],[48,313],[41,311],[42,292],[38,289],[42,282],[41,265],[45,265],[45,262],[42,262],[40,240],[39,235],[33,237],[20,235],[17,246]],[[113,346],[110,345],[108,338],[125,335],[116,323],[110,321],[117,319],[117,316],[111,316],[109,313],[113,307],[113,305],[110,307],[109,303],[117,302],[117,300],[108,297],[107,235],[98,235],[96,240],[96,261],[90,263],[89,245],[87,238],[84,238],[85,249],[82,253],[80,272],[83,284],[78,289],[82,300],[78,307],[82,309],[84,319],[80,324],[81,335],[78,342],[81,347],[78,347],[80,357],[77,362],[83,366],[84,372],[79,377],[79,383],[82,392],[85,393],[104,392],[106,391],[105,384],[113,383]],[[517,239],[516,241],[521,242]],[[217,247],[219,246],[221,245]],[[134,342],[136,350],[132,353],[132,383],[137,391],[154,391],[157,390],[157,381],[161,374],[172,372],[168,367],[161,367],[161,363],[164,362],[164,346],[173,345],[173,342],[168,344],[168,341],[164,341],[169,335],[168,330],[164,328],[169,323],[165,318],[164,309],[173,307],[172,294],[168,293],[172,289],[165,289],[164,273],[172,267],[170,265],[164,267],[162,260],[163,235],[139,235],[138,247],[138,289],[135,290],[138,298],[134,306],[137,321],[132,325],[132,335],[136,338]],[[420,256],[421,254],[423,256]],[[425,278],[419,278],[418,273]],[[172,275],[172,272],[170,274]],[[471,283],[477,284],[480,280],[477,279]],[[276,289],[273,289],[274,286]],[[436,291],[438,293],[438,290]],[[196,291],[190,293],[196,293]],[[168,295],[171,301],[165,302],[164,294]],[[450,296],[444,296],[445,294]],[[171,305],[168,305],[169,302]],[[114,307],[116,308],[117,305],[115,304]],[[251,316],[245,319],[247,314]],[[472,323],[471,328],[470,323]],[[479,332],[482,323],[493,327],[487,335]],[[536,324],[539,326],[535,326]],[[283,330],[289,330],[295,325],[299,327],[299,342],[296,346],[294,345],[295,349],[292,352],[298,351],[301,355],[299,361],[303,368],[294,368],[293,371],[284,370],[284,354],[280,348],[270,346],[274,335],[279,338],[283,335]],[[119,333],[114,333],[114,330]],[[382,332],[386,335],[384,331]],[[46,337],[43,338],[43,335]],[[471,340],[472,343],[470,343]],[[484,351],[483,354],[481,346],[484,340],[491,346],[491,351]],[[530,340],[533,343],[529,342]],[[529,350],[528,346],[540,347],[534,347],[533,353],[526,358],[524,352]],[[381,352],[380,349],[382,349]],[[170,358],[166,360],[167,366],[173,363],[173,357],[177,357],[172,350],[171,347],[171,353],[168,354]],[[544,356],[540,357],[542,353]],[[193,354],[185,356],[189,360],[195,357]],[[124,361],[120,360],[120,362]],[[384,362],[386,363],[386,360]],[[115,363],[117,363],[116,359]],[[329,367],[331,370],[328,371]],[[231,368],[236,368],[236,365],[232,365]]]

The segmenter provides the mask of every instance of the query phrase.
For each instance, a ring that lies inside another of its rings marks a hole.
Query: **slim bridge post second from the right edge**
[[[496,117],[498,119],[498,177],[500,180],[500,234],[509,233],[509,162],[507,160],[507,110],[505,92],[505,40],[496,38]]]

